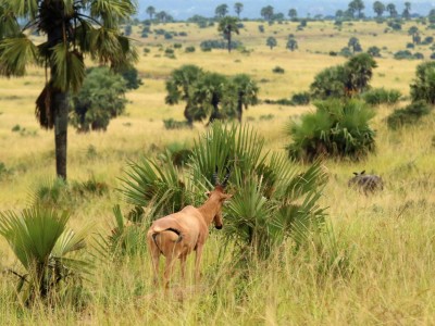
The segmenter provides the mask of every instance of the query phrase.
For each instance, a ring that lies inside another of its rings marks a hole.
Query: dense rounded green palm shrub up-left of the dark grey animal
[[[374,116],[363,102],[337,99],[315,103],[316,112],[291,121],[286,129],[293,138],[290,158],[313,161],[319,156],[360,160],[375,149]]]

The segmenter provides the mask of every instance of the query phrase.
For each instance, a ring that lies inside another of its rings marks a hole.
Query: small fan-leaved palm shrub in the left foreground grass
[[[89,273],[90,263],[74,255],[85,248],[89,228],[75,233],[66,227],[69,218],[66,212],[44,208],[21,214],[0,212],[0,235],[24,268],[24,273],[9,272],[18,277],[17,292],[25,304],[37,299],[54,303],[61,293],[74,291]]]

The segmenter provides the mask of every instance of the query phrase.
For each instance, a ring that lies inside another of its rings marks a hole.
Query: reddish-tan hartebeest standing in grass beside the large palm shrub
[[[229,172],[223,183],[219,183],[217,174],[213,175],[214,189],[206,192],[209,199],[199,208],[185,206],[182,211],[156,220],[147,234],[148,248],[151,253],[154,269],[154,284],[158,284],[159,259],[166,259],[163,285],[169,287],[172,269],[176,259],[181,261],[182,281],[186,277],[186,258],[196,251],[195,280],[199,280],[199,264],[202,249],[209,236],[209,226],[212,222],[217,229],[222,228],[222,204],[232,195],[225,193],[225,186]]]

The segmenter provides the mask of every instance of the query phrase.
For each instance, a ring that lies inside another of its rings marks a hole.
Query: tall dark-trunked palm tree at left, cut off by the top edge
[[[28,63],[48,71],[36,116],[44,128],[54,129],[57,174],[66,179],[67,95],[83,84],[85,54],[113,68],[135,59],[120,23],[136,7],[133,0],[0,0],[0,74],[23,76]],[[46,41],[34,43],[26,33],[30,28],[46,35]]]

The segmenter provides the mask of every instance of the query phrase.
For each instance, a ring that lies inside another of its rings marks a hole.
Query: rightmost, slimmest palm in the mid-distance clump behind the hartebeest
[[[258,92],[260,88],[257,83],[246,74],[234,76],[233,87],[237,97],[237,120],[241,123],[244,108],[248,110],[249,105],[258,104]]]

